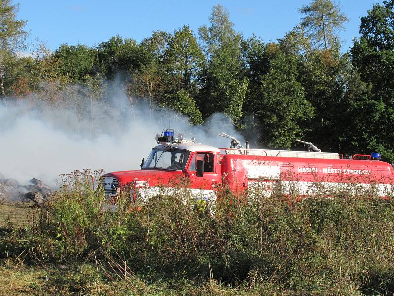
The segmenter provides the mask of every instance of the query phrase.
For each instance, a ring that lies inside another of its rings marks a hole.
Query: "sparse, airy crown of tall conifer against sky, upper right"
[[[331,0],[314,0],[299,9],[299,12],[305,15],[301,25],[315,48],[328,49],[337,43],[335,30],[342,29],[343,24],[349,21],[341,13],[339,5],[333,4]]]

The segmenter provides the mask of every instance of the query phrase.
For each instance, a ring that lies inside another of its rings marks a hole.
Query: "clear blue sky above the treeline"
[[[29,42],[39,39],[51,50],[78,43],[93,46],[119,34],[138,42],[161,29],[173,33],[188,24],[197,35],[198,27],[209,24],[212,6],[228,9],[236,31],[247,38],[253,33],[264,42],[275,41],[299,24],[298,9],[311,0],[14,0],[20,4],[19,19],[28,21]],[[360,17],[382,0],[342,0],[339,3],[350,21],[340,32],[342,51],[359,36]]]

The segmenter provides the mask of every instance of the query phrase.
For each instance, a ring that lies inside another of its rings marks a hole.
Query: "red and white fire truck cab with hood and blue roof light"
[[[214,198],[214,191],[221,182],[220,149],[198,144],[194,138],[184,139],[181,134],[174,137],[173,130],[165,129],[156,135],[155,146],[147,159],[143,159],[141,170],[112,172],[102,176],[102,184],[109,200],[116,201],[119,189],[130,189],[134,198],[148,199],[160,194],[164,188],[170,190],[181,178],[194,194],[200,198]],[[183,179],[185,180],[185,179]]]

